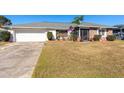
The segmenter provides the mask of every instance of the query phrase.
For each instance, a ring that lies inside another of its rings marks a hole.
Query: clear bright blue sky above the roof
[[[13,24],[31,22],[71,22],[78,15],[6,15]],[[124,24],[124,15],[85,15],[84,22],[105,25]]]

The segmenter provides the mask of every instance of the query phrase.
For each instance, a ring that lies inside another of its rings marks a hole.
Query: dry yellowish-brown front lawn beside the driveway
[[[47,42],[32,77],[124,77],[124,41]]]

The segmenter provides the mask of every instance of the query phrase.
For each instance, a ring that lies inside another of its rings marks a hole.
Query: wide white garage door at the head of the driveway
[[[16,31],[16,42],[43,42],[46,34],[43,31]]]

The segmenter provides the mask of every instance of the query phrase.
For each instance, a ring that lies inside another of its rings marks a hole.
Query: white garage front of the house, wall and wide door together
[[[43,30],[40,28],[16,28],[11,30],[10,32],[11,32],[11,41],[13,42],[47,41],[48,40],[47,32],[52,32],[54,39],[56,39],[56,30]]]

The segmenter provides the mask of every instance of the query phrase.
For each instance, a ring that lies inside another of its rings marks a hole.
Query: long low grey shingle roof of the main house
[[[27,24],[17,24],[12,27],[44,27],[44,28],[54,28],[54,29],[68,29],[70,26],[73,27],[100,27],[100,28],[113,28],[107,25],[95,24],[82,22],[81,25],[71,24],[71,23],[62,23],[62,22],[37,22],[37,23],[27,23]]]

